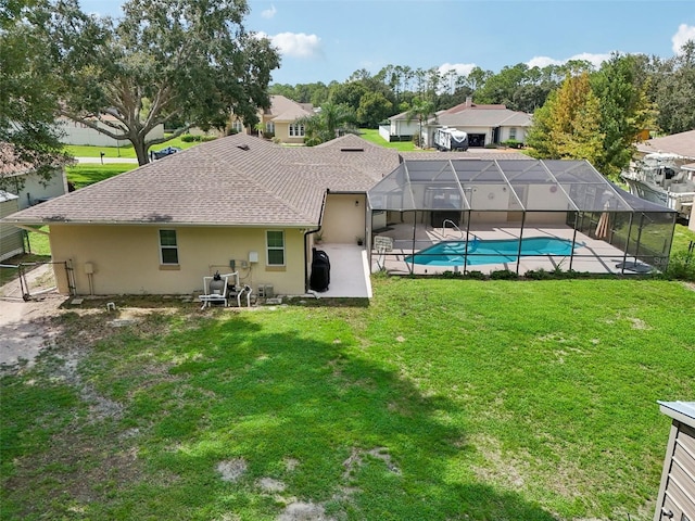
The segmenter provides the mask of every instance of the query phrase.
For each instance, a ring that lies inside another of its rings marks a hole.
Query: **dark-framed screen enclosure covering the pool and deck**
[[[662,270],[677,218],[565,160],[406,160],[368,203],[372,269],[416,275]]]

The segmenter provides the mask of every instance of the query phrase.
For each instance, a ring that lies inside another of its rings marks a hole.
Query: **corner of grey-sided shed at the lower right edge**
[[[659,402],[672,419],[654,521],[695,520],[695,402]]]

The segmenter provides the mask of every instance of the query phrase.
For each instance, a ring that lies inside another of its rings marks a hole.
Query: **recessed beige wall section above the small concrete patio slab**
[[[365,237],[366,195],[329,193],[321,226],[324,242],[356,244]]]

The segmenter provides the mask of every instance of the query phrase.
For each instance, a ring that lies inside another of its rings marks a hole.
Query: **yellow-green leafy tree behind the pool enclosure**
[[[549,160],[602,161],[603,135],[598,99],[591,90],[589,74],[568,76],[535,111],[527,143],[532,155]]]

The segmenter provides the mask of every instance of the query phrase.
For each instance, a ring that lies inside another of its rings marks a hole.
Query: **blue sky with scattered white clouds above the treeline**
[[[117,16],[122,1],[81,0]],[[671,58],[695,39],[693,0],[249,0],[245,25],[279,48],[274,82],[344,81],[355,71],[596,64],[614,51]]]

